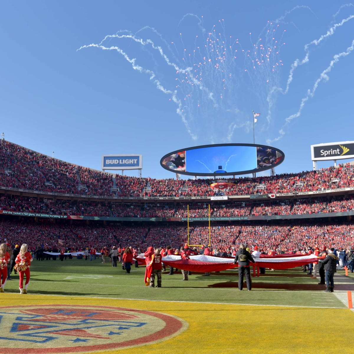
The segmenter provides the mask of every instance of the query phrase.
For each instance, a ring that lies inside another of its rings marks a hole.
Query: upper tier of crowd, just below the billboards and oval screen
[[[114,175],[70,164],[0,140],[0,185],[55,193],[99,196],[211,196],[212,179],[153,179]],[[269,177],[230,178],[225,195],[309,192],[354,187],[350,164]]]

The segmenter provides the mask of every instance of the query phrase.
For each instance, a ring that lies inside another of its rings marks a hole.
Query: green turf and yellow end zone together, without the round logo
[[[168,270],[168,268],[166,269]],[[351,274],[340,270],[335,277],[335,292],[324,293],[319,278],[312,279],[301,268],[270,272],[252,280],[252,291],[237,287],[234,270],[193,274],[182,280],[181,272],[162,274],[162,288],[146,287],[144,267],[131,273],[101,260],[76,258],[33,261],[27,295],[20,295],[18,275],[12,274],[1,307],[17,306],[92,306],[148,310],[181,320],[182,329],[156,343],[139,343],[141,353],[335,353],[331,346],[347,335],[344,324],[353,321],[348,309],[347,290],[354,290]],[[1,323],[1,322],[0,322]],[[3,326],[3,323],[1,323]],[[13,326],[13,325],[12,325]],[[11,331],[11,328],[9,329]],[[1,342],[1,340],[0,340]],[[7,343],[7,342],[6,342]],[[0,353],[18,351],[18,343],[0,344]],[[39,350],[39,349],[38,349]],[[52,352],[65,349],[52,347]],[[79,350],[79,349],[78,349]],[[111,351],[110,351],[111,350]],[[114,351],[127,349],[114,349]],[[47,353],[49,351],[47,350]],[[88,352],[82,347],[82,352]],[[112,353],[112,349],[94,350]],[[28,350],[36,353],[36,350]]]

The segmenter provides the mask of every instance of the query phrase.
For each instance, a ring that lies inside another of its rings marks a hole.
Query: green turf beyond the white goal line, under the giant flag
[[[267,270],[265,275],[252,278],[252,291],[247,291],[246,286],[243,291],[238,290],[235,270],[212,273],[211,276],[196,273],[189,275],[188,281],[183,281],[181,271],[169,275],[168,269],[162,272],[162,288],[151,289],[144,284],[145,267],[134,268],[133,265],[131,273],[127,274],[120,264],[113,268],[110,263],[102,264],[100,259],[33,261],[28,292],[120,299],[345,307],[336,297],[329,302],[329,294],[323,293],[324,287],[318,285],[319,279],[312,279],[301,268]],[[338,274],[344,275],[344,271]],[[6,291],[17,293],[18,275],[12,274],[12,278],[14,280],[7,281]],[[338,288],[337,284],[336,290]]]

